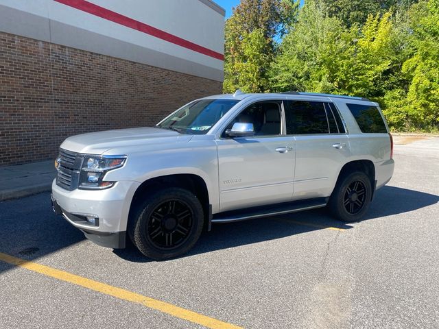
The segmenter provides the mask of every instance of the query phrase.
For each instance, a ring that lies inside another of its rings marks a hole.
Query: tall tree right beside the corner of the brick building
[[[294,0],[242,0],[234,8],[224,31],[224,92],[269,89],[268,69],[276,38],[292,25],[297,10]]]

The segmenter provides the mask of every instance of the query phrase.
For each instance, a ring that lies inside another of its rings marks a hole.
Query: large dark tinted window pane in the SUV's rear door
[[[320,101],[285,101],[287,134],[328,134],[327,114]]]

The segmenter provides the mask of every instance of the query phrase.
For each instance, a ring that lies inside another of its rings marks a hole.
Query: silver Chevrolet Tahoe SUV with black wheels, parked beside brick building
[[[327,206],[364,216],[392,177],[378,103],[310,93],[216,95],[156,127],[67,138],[52,184],[56,213],[99,245],[126,235],[150,258],[185,254],[203,227]]]

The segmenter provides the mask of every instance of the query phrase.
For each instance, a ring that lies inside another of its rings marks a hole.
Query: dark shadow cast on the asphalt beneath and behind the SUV
[[[384,186],[375,194],[375,198],[363,221],[410,212],[438,202],[438,195],[394,186]],[[298,222],[304,225],[300,225]],[[320,226],[320,228],[316,226]],[[237,223],[216,224],[211,232],[202,234],[200,241],[189,252],[188,256],[239,245],[281,239],[285,236],[324,228],[348,230],[353,226],[333,219],[324,208]],[[130,246],[128,249],[115,250],[115,254],[132,262],[148,261],[134,246]]]

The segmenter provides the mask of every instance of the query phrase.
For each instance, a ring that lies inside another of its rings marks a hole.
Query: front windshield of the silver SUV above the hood
[[[182,134],[206,134],[238,102],[237,99],[201,99],[183,106],[157,125]]]

